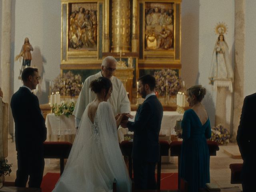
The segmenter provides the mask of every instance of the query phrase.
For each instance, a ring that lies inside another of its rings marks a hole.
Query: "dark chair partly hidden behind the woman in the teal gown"
[[[216,156],[216,151],[220,150],[218,143],[215,141],[207,141],[209,155]],[[170,143],[170,155],[178,156],[178,188],[180,189],[180,154],[181,154],[182,141],[174,141]]]

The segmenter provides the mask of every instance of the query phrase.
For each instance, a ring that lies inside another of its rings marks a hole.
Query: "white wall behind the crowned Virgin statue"
[[[216,91],[208,84],[208,75],[214,45],[218,38],[215,34],[215,26],[218,22],[224,22],[228,26],[228,32],[224,34],[224,37],[234,68],[234,0],[200,0],[198,84],[202,84],[207,89],[204,105],[212,126],[215,124]]]

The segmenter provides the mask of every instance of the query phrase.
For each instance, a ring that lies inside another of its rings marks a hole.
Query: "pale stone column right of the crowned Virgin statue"
[[[244,101],[245,0],[235,0],[235,68],[233,139],[236,139]]]

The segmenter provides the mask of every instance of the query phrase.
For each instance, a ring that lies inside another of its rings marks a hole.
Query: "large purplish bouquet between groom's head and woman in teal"
[[[176,95],[181,90],[181,79],[178,78],[177,72],[171,69],[162,69],[154,73],[156,78],[156,91],[160,96]],[[166,89],[167,88],[167,89]]]

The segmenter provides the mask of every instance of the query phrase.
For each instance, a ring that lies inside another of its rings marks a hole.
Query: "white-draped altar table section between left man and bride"
[[[76,136],[75,116],[47,114],[45,125],[47,128],[46,141],[74,142]]]

